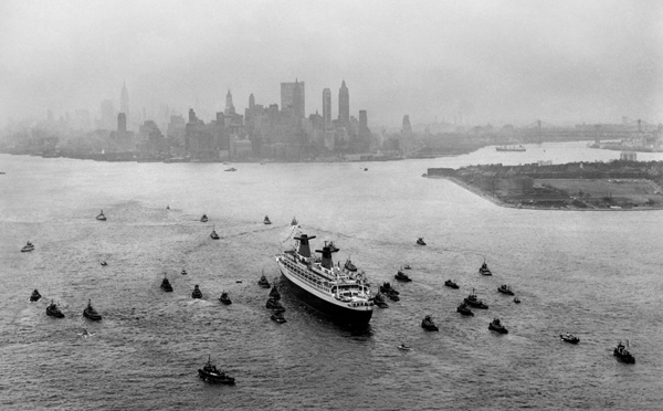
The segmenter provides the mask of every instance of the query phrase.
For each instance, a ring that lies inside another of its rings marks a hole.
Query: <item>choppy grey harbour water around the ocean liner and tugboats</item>
[[[236,172],[2,155],[0,409],[661,409],[662,212],[505,209],[420,177],[428,167],[619,156],[583,146]],[[99,209],[108,221],[95,221]],[[202,213],[210,222],[198,222]],[[273,255],[295,215],[314,245],[334,240],[337,260],[351,256],[372,284],[393,282],[404,263],[414,281],[361,333],[286,292],[288,323],[271,322],[255,282],[263,270],[278,275]],[[213,225],[220,241],[209,239]],[[415,246],[418,236],[429,245]],[[20,253],[28,240],[36,250]],[[484,257],[493,277],[476,273]],[[171,294],[159,291],[164,272]],[[497,293],[503,283],[520,305]],[[472,288],[490,309],[461,317]],[[217,301],[223,289],[230,306]],[[66,318],[45,315],[51,298]],[[82,317],[87,298],[98,324]],[[421,329],[425,314],[440,333]],[[508,335],[488,331],[493,317]],[[565,331],[581,342],[560,342]],[[619,339],[634,366],[612,357]],[[197,378],[208,355],[235,387]]]

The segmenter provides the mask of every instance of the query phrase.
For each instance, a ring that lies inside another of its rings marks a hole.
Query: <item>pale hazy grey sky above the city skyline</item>
[[[663,1],[0,1],[0,125],[51,108],[189,107],[230,88],[306,113],[346,81],[369,126],[663,122]]]

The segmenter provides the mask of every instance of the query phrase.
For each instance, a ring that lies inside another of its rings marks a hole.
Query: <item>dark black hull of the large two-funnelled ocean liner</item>
[[[316,312],[328,317],[330,320],[337,324],[361,326],[367,325],[372,316],[372,309],[351,309],[346,308],[328,301],[325,301],[309,291],[305,289],[296,282],[292,281],[284,268],[278,264],[283,277],[287,280],[288,289],[291,293],[302,301],[307,306],[314,308]]]

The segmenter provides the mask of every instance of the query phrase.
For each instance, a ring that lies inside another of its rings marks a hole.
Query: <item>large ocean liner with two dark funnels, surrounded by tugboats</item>
[[[322,257],[312,256],[308,236],[294,238],[296,249],[276,255],[281,273],[290,283],[292,293],[306,305],[329,317],[335,323],[366,325],[370,322],[373,303],[370,286],[364,273],[334,265],[332,253],[338,251],[327,243],[316,250]]]

